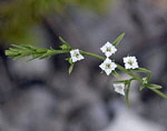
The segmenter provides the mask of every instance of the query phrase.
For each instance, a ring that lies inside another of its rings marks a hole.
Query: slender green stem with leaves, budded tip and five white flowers
[[[13,59],[19,59],[23,57],[31,57],[28,61],[33,59],[45,59],[49,58],[55,54],[63,54],[69,53],[70,57],[66,60],[70,63],[69,67],[69,73],[72,72],[72,69],[75,67],[75,63],[77,61],[84,60],[85,56],[90,56],[94,58],[97,58],[99,60],[102,60],[104,62],[99,66],[99,68],[106,72],[107,75],[112,74],[114,77],[118,78],[118,72],[116,69],[122,71],[124,73],[130,75],[130,79],[128,80],[118,80],[115,81],[114,88],[115,91],[119,94],[122,94],[126,97],[127,105],[129,107],[129,89],[131,81],[138,81],[141,85],[139,87],[139,90],[144,90],[145,88],[154,91],[158,95],[163,97],[164,99],[167,99],[167,94],[163,93],[159,89],[161,89],[161,85],[150,83],[151,79],[151,71],[147,70],[145,68],[139,68],[136,57],[125,57],[122,59],[125,67],[116,63],[114,60],[110,59],[110,57],[117,51],[117,46],[122,40],[125,33],[121,33],[112,43],[107,42],[104,47],[100,48],[100,50],[105,53],[106,57],[101,57],[91,52],[87,52],[79,49],[73,49],[68,42],[66,42],[62,38],[59,38],[62,46],[59,50],[55,50],[52,48],[45,49],[45,48],[36,48],[31,46],[14,46],[13,48],[9,48],[9,50],[6,50],[6,56],[11,57]],[[140,78],[136,74],[136,72],[145,73],[146,77]]]

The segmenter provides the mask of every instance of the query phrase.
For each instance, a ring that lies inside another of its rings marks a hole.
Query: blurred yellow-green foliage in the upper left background
[[[94,11],[105,11],[110,1],[11,0],[0,2],[0,41],[20,43],[32,38],[36,39],[31,29],[41,24],[48,14],[66,14],[66,10],[71,6],[84,7]]]

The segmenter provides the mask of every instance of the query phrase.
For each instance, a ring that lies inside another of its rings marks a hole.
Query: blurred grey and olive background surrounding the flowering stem
[[[121,32],[112,57],[136,56],[167,93],[167,0],[0,0],[0,131],[167,131],[167,101],[130,89],[130,108],[100,73],[101,61],[86,57],[68,74],[68,56],[13,61],[11,44],[72,47],[101,54]],[[127,75],[121,74],[122,79]]]

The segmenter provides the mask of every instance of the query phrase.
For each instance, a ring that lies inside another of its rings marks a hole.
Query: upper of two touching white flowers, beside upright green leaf
[[[105,46],[102,46],[100,48],[100,50],[105,53],[105,56],[108,58],[111,54],[114,54],[117,49],[115,48],[115,46],[112,46],[110,42],[107,42]]]

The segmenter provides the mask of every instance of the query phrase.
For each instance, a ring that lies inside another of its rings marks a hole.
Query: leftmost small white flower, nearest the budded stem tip
[[[84,56],[80,54],[79,49],[71,50],[70,54],[71,54],[72,62],[85,59]]]

